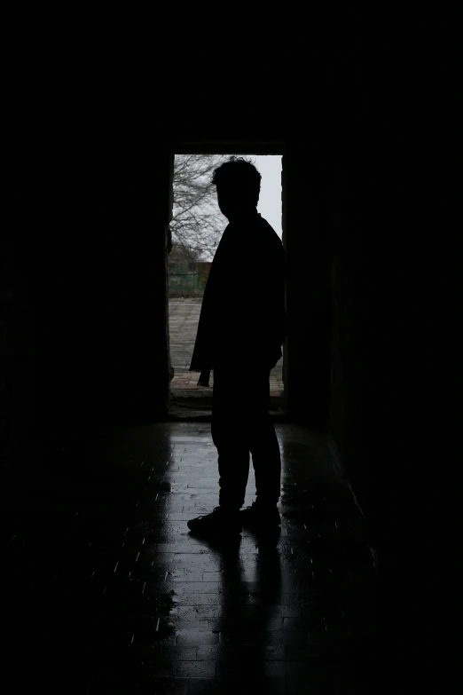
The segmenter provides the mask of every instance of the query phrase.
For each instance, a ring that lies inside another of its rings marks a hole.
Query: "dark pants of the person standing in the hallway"
[[[269,370],[252,366],[239,383],[236,370],[214,369],[212,439],[218,454],[219,504],[240,509],[244,504],[249,454],[253,457],[259,504],[279,502],[281,458],[269,415]]]

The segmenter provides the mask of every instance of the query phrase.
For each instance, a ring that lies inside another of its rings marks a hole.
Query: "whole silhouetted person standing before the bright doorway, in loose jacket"
[[[261,175],[231,157],[212,177],[229,220],[204,291],[190,371],[214,370],[212,438],[218,453],[219,506],[191,519],[205,535],[266,530],[280,523],[279,443],[269,414],[269,377],[285,338],[286,258],[279,236],[257,212]],[[246,389],[236,375],[247,375]],[[241,509],[255,469],[256,500]]]

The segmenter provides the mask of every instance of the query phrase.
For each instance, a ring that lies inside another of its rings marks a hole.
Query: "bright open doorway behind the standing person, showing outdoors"
[[[228,220],[218,209],[210,178],[230,155],[243,156],[262,176],[258,212],[274,228],[286,248],[284,147],[177,146],[172,153],[172,210],[168,243],[169,413],[174,417],[210,417],[214,374],[200,382],[190,361],[200,307],[216,247]],[[286,410],[286,346],[271,370],[270,410]],[[245,395],[246,386],[243,385]]]

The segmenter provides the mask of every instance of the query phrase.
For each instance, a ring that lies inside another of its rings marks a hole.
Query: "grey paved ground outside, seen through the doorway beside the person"
[[[198,322],[202,298],[172,298],[169,300],[169,334],[170,334],[170,359],[175,369],[175,375],[170,383],[172,391],[209,391],[197,386],[199,374],[190,372],[190,362]],[[214,375],[211,375],[210,388],[214,383]],[[283,359],[271,370],[271,398],[283,396]],[[246,389],[245,383],[239,384]]]

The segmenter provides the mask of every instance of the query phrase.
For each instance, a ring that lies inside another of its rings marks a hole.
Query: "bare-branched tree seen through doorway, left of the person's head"
[[[169,261],[210,261],[214,257],[226,220],[211,177],[225,160],[219,154],[176,155]]]

